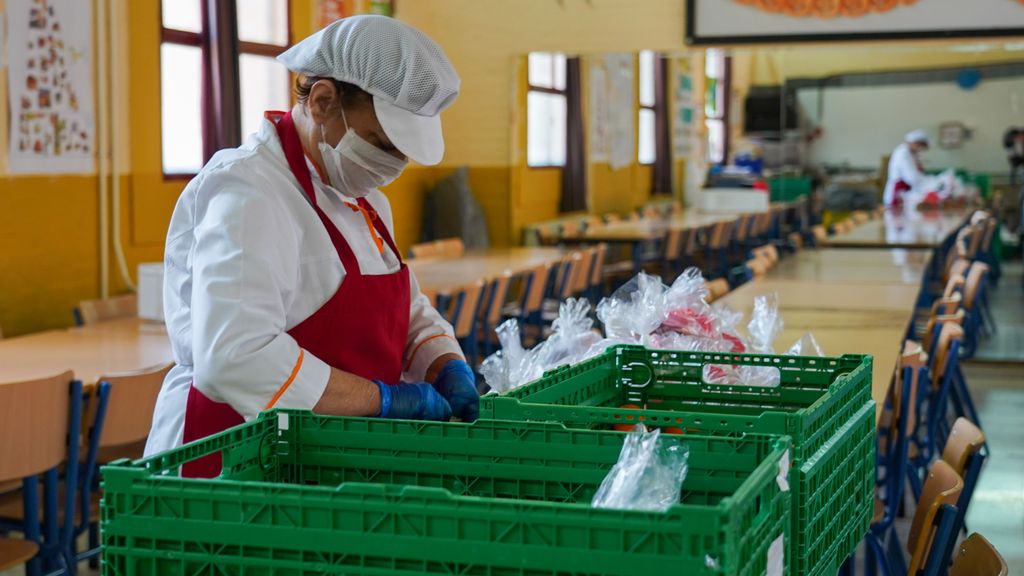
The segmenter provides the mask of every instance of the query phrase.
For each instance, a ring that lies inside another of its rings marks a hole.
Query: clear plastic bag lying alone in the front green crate
[[[638,424],[591,504],[595,508],[666,511],[679,503],[689,449],[679,439]]]

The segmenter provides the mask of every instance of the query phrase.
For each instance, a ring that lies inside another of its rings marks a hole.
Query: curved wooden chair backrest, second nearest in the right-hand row
[[[936,460],[928,470],[925,487],[918,500],[918,509],[913,512],[910,525],[910,535],[906,540],[906,551],[910,553],[910,570],[907,574],[918,574],[932,553],[935,539],[935,520],[939,508],[945,505],[955,506],[964,490],[964,481],[949,464]],[[940,542],[941,544],[941,542]],[[944,550],[936,550],[943,552]]]

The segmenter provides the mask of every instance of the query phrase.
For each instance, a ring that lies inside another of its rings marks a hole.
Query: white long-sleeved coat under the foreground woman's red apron
[[[387,248],[382,254],[362,214],[345,206],[354,202],[307,164],[317,203],[362,273],[397,271],[395,254]],[[387,198],[375,191],[367,200],[393,235]],[[327,231],[289,170],[273,123],[264,121],[241,148],[217,153],[182,192],[167,233],[164,314],[176,366],[160,390],[145,453],[181,444],[194,381],[210,400],[230,404],[247,421],[254,418],[296,368],[299,346],[288,330],[316,312],[344,279]],[[439,356],[461,351],[412,272],[410,280],[402,378],[419,381]],[[306,351],[274,407],[312,408],[330,371]]]

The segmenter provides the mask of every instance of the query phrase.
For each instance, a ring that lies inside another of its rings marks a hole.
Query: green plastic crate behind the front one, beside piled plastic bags
[[[780,384],[709,384],[705,369],[714,365],[775,367]],[[627,404],[642,409],[621,408]],[[869,424],[848,427],[867,413]],[[559,421],[581,428],[642,421],[699,434],[788,436],[797,466],[794,505],[803,513],[793,517],[791,572],[835,573],[869,528],[874,485],[869,356],[807,358],[615,346],[504,396],[485,396],[480,415]],[[856,476],[837,471],[837,462],[854,466]],[[824,524],[830,532],[818,530]]]

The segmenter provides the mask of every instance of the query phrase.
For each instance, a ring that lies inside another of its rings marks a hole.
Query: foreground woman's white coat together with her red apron
[[[419,381],[441,355],[461,355],[401,262],[387,198],[343,196],[301,150],[290,117],[268,115],[178,199],[164,273],[176,366],[147,455],[268,408],[312,408],[331,367]]]

